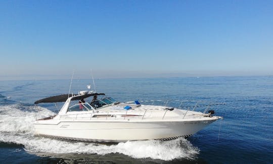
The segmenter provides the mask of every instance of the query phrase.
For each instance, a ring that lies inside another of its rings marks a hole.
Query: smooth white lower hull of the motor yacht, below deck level
[[[218,118],[204,120],[162,121],[36,121],[35,134],[85,142],[126,142],[139,140],[170,140],[189,137]]]

